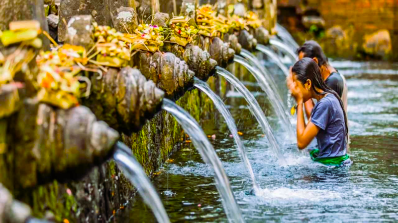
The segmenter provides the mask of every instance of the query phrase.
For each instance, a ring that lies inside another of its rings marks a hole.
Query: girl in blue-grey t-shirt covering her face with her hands
[[[348,125],[343,102],[323,81],[316,62],[303,58],[287,78],[288,88],[297,102],[297,145],[304,149],[316,136],[318,149],[310,151],[315,162],[330,166],[351,164],[347,154]],[[316,99],[307,124],[303,102]]]

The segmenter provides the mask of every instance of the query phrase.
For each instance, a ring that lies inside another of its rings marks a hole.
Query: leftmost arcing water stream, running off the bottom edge
[[[132,155],[131,150],[121,142],[117,142],[115,147],[116,152],[113,154],[113,159],[123,170],[124,176],[137,188],[145,204],[151,208],[156,220],[160,223],[170,223],[159,195],[144,169]]]

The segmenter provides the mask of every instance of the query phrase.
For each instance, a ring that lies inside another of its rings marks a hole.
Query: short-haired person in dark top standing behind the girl
[[[306,41],[297,49],[296,53],[298,54],[298,59],[309,57],[318,64],[323,81],[325,81],[326,85],[340,96],[343,101],[344,111],[347,112],[348,89],[345,78],[329,64],[328,59],[319,44],[313,40]],[[309,118],[314,108],[314,102],[312,100],[308,100],[304,105],[305,114],[307,118]]]

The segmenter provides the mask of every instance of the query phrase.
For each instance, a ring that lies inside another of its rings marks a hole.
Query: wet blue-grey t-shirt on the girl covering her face
[[[344,113],[339,100],[327,94],[319,100],[311,113],[311,122],[318,126],[318,158],[344,156],[347,153]]]

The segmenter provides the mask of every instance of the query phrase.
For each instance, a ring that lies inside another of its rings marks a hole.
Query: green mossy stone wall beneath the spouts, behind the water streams
[[[208,81],[214,89],[215,78]],[[213,114],[213,104],[197,89],[187,91],[177,102],[199,123]],[[155,172],[168,155],[186,139],[174,117],[161,111],[148,121],[141,131],[122,134],[121,140],[129,146],[148,175]],[[136,191],[122,175],[114,161],[94,168],[78,182],[51,184],[30,190],[12,191],[15,197],[29,204],[36,217],[47,217],[56,222],[107,222],[116,212],[123,211]],[[67,220],[67,221],[66,221]]]

